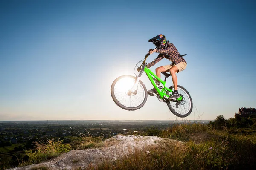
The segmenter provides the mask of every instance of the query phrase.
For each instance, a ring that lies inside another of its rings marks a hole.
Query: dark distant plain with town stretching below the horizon
[[[64,138],[81,134],[90,134],[93,137],[108,137],[150,126],[166,128],[180,122],[182,121],[0,121],[0,147],[10,144],[26,144],[33,138]],[[194,122],[208,123],[209,121],[186,121],[186,123]]]

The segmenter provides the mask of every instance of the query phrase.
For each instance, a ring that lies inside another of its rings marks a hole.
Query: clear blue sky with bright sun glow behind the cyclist
[[[110,95],[114,79],[134,75],[154,48],[148,39],[158,34],[187,54],[188,66],[177,74],[194,103],[186,120],[230,118],[240,107],[256,107],[255,6],[253,0],[2,0],[0,120],[180,120],[155,97],[126,111]],[[152,88],[145,75],[142,81]]]

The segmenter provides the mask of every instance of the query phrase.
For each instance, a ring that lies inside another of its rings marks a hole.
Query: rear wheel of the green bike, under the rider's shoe
[[[169,87],[169,89],[174,91],[174,86]],[[192,112],[193,101],[189,92],[183,86],[178,85],[178,92],[182,95],[181,101],[167,101],[166,103],[173,114],[180,118],[184,118]],[[169,91],[166,94],[169,95]]]

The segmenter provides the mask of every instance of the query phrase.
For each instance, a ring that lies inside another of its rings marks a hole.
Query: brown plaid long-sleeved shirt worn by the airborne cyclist
[[[180,62],[185,62],[185,59],[183,57],[179,57],[180,53],[176,49],[176,47],[173,45],[173,43],[169,43],[168,47],[166,49],[156,49],[156,52],[159,52],[160,54],[157,56],[157,58],[154,59],[151,63],[147,65],[148,68],[151,66],[154,66],[156,63],[158,63],[163,58],[166,58],[172,63],[178,64]]]

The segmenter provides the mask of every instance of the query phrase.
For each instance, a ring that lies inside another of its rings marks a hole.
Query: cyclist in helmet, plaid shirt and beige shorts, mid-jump
[[[157,35],[156,37],[151,38],[148,42],[152,42],[156,48],[154,50],[149,50],[148,53],[152,54],[153,52],[160,53],[157,58],[154,59],[151,63],[147,65],[148,68],[154,66],[163,58],[166,58],[172,62],[170,65],[160,66],[156,68],[156,75],[157,77],[161,77],[161,72],[170,72],[172,75],[172,82],[174,85],[174,92],[169,97],[169,100],[177,99],[180,97],[178,93],[178,81],[176,73],[183,71],[186,69],[187,63],[183,57],[180,56],[180,53],[173,45],[173,43],[169,43],[169,40],[166,41],[166,37],[162,34]],[[157,81],[157,85],[160,85],[159,81]],[[157,93],[156,90],[153,88],[148,90],[149,95],[153,95],[153,93]]]

